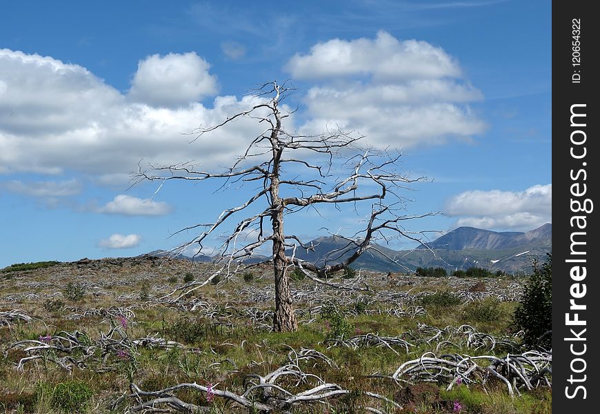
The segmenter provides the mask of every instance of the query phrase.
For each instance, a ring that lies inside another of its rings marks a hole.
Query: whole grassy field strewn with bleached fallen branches
[[[529,351],[510,326],[522,279],[361,272],[368,292],[294,280],[299,331],[272,333],[268,267],[166,297],[207,267],[0,273],[0,413],[551,412],[549,375],[490,371]]]

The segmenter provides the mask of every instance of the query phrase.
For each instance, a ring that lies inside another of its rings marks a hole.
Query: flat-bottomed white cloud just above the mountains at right
[[[517,192],[466,191],[448,200],[445,213],[460,217],[458,226],[532,230],[552,222],[552,184]]]

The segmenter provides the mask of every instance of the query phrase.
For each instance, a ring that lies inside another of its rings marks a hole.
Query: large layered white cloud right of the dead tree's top
[[[366,135],[373,146],[409,148],[470,139],[486,129],[468,106],[483,99],[481,92],[461,79],[455,59],[425,41],[400,41],[387,32],[333,39],[294,55],[285,68],[321,81],[305,98],[307,133],[339,126]]]

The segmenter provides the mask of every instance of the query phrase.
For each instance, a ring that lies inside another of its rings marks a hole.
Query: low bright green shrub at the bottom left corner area
[[[71,380],[52,386],[42,382],[36,390],[38,400],[48,398],[52,407],[62,413],[83,413],[94,395],[92,388],[83,381]]]

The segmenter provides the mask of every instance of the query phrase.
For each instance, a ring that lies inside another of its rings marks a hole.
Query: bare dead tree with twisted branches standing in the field
[[[193,132],[197,135],[193,140],[195,141],[208,132],[226,128],[241,117],[255,119],[258,124],[265,125],[266,129],[260,135],[250,138],[245,152],[230,168],[221,172],[205,172],[197,170],[190,163],[184,163],[152,167],[152,174],[140,169],[137,174],[139,181],[222,179],[225,181],[223,186],[231,183],[259,183],[257,192],[248,201],[224,210],[214,222],[179,230],[177,233],[203,228],[201,234],[179,246],[177,252],[194,244],[202,248],[207,238],[215,235],[217,228],[230,217],[239,215],[242,210],[254,206],[259,200],[266,201],[266,208],[239,220],[232,233],[226,237],[217,260],[221,266],[207,280],[194,282],[186,287],[190,291],[204,286],[217,275],[232,275],[244,267],[245,259],[255,254],[263,244],[270,242],[272,253],[268,262],[272,262],[275,288],[274,331],[295,331],[298,327],[290,295],[290,268],[299,268],[315,282],[356,288],[357,281],[352,286],[338,285],[328,282],[326,278],[337,270],[347,268],[366,251],[374,250],[374,239],[387,237],[384,230],[395,233],[396,236],[416,239],[416,233],[406,231],[401,223],[425,216],[400,214],[406,199],[399,194],[399,190],[406,188],[406,184],[412,181],[421,180],[409,179],[398,172],[401,154],[391,155],[388,151],[363,148],[360,146],[362,136],[354,132],[342,132],[339,128],[320,135],[288,132],[283,121],[292,111],[286,110],[282,101],[291,90],[286,83],[265,83],[257,90],[256,105],[228,117],[218,125]],[[297,171],[298,168],[300,172]],[[344,171],[343,175],[340,170]],[[384,201],[390,199],[391,202],[384,204]],[[319,204],[334,205],[336,208],[340,204],[354,204],[356,210],[357,202],[368,200],[372,201],[372,206],[366,219],[366,228],[352,236],[342,237],[346,243],[344,248],[330,252],[326,260],[318,263],[306,262],[297,256],[299,249],[310,250],[314,246],[303,244],[296,235],[286,234],[283,227],[286,215],[298,213],[305,208],[316,208]],[[270,232],[263,226],[267,220],[270,221]],[[240,239],[244,239],[243,235],[246,234],[243,232],[248,229],[255,230],[257,236],[251,242],[241,243]],[[394,260],[393,257],[390,259]]]

